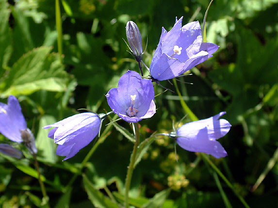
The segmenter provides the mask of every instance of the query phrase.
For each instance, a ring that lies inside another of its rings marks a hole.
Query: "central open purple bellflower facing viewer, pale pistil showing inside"
[[[118,88],[110,89],[106,98],[113,112],[127,122],[136,123],[155,114],[152,82],[134,71],[122,75]]]

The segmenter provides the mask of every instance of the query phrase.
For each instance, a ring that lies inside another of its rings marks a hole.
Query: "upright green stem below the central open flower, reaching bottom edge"
[[[134,142],[134,147],[133,147],[133,151],[131,154],[131,162],[128,166],[128,173],[127,173],[127,178],[126,178],[126,184],[125,184],[125,207],[129,208],[129,192],[130,192],[130,188],[131,188],[131,178],[132,178],[132,173],[133,173],[133,169],[134,169],[134,164],[135,164],[135,159],[136,159],[136,155],[137,155],[137,149],[138,149],[138,144],[139,144],[139,139],[140,139],[140,134],[139,134],[139,124],[135,123],[135,137],[136,140]]]

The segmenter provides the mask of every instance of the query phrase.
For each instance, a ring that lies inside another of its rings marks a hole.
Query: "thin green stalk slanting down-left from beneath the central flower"
[[[117,117],[117,115],[115,115],[113,117],[113,120]],[[96,144],[93,146],[92,149],[90,149],[90,151],[88,152],[88,154],[86,155],[86,157],[83,159],[82,163],[81,163],[81,167],[80,167],[80,171],[75,173],[73,175],[73,177],[69,180],[68,184],[66,185],[65,189],[64,189],[64,193],[71,187],[71,185],[73,184],[73,182],[75,181],[75,179],[81,174],[83,167],[85,166],[85,164],[90,160],[90,158],[92,157],[93,153],[96,151],[96,149],[98,148],[98,146],[100,144],[102,144],[104,142],[104,140],[107,138],[107,136],[110,134],[109,131],[111,130],[113,125],[108,125],[106,126],[106,128],[104,129],[104,131],[102,132],[102,134],[99,136],[98,141],[96,142]]]

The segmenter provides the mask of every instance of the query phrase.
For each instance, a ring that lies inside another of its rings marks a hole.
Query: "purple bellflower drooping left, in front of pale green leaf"
[[[49,131],[48,136],[58,144],[56,154],[66,156],[64,160],[67,160],[97,136],[100,118],[95,113],[80,113],[43,128],[50,127],[54,127],[54,129]]]

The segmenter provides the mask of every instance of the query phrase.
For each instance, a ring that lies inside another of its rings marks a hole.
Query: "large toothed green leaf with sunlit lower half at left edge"
[[[51,47],[42,46],[18,59],[3,80],[6,86],[0,89],[1,96],[28,95],[40,89],[65,91],[68,75],[60,64],[59,56],[49,54],[50,50]]]

